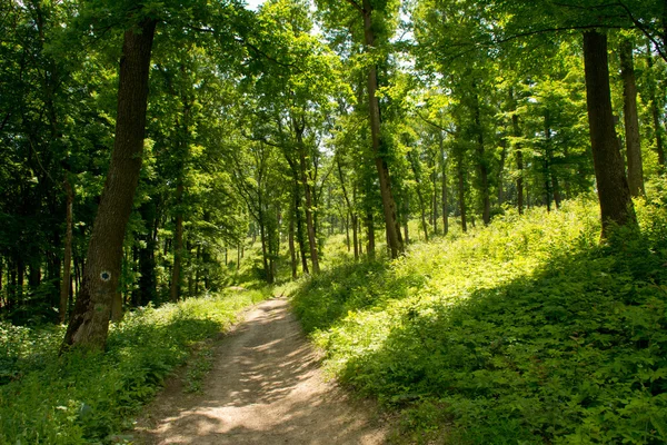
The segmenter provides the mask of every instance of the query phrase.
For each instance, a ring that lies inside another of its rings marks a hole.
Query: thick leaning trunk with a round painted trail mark
[[[157,21],[126,31],[120,59],[116,139],[88,245],[86,270],[63,346],[101,349],[118,290],[122,241],[141,171],[150,52]]]

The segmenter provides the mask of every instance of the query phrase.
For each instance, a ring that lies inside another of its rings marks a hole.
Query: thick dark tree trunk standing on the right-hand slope
[[[584,67],[593,162],[600,201],[603,237],[606,237],[614,224],[626,226],[636,222],[614,129],[607,36],[598,31],[584,33]]]

